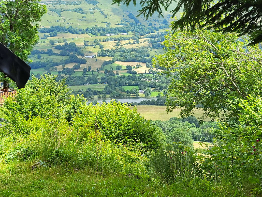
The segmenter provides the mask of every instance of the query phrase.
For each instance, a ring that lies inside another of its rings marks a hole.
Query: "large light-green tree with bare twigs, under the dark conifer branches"
[[[177,31],[168,34],[163,44],[165,54],[153,61],[173,77],[168,111],[181,108],[180,115],[188,117],[202,107],[202,121],[223,113],[235,117],[235,98],[261,95],[262,51],[258,45],[247,46],[237,34]]]

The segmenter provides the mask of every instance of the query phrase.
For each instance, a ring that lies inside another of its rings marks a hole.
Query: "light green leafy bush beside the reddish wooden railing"
[[[32,117],[42,118],[59,114],[72,120],[72,114],[84,104],[83,97],[69,95],[65,81],[56,81],[53,75],[44,75],[40,79],[32,76],[24,89],[17,90],[15,98],[8,97],[4,101],[4,112],[11,122],[17,121],[20,115],[29,120]],[[18,116],[19,115],[19,116]]]

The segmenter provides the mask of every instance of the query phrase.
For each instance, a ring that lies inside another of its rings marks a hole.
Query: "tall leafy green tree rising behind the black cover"
[[[46,6],[39,0],[0,1],[0,42],[26,62],[30,51],[39,37],[37,22],[46,13]],[[4,87],[9,87],[9,79],[0,75]]]

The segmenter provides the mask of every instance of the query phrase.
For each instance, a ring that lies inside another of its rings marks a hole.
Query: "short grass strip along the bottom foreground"
[[[66,166],[37,167],[37,161],[11,162],[0,165],[0,196],[34,197],[156,197],[156,196],[230,196],[222,195],[221,189],[214,191],[199,186],[157,183],[144,173],[129,177],[127,174],[96,172],[89,168],[74,169]],[[211,184],[211,183],[210,183]],[[209,186],[209,185],[208,185]],[[211,187],[210,186],[210,187]],[[228,189],[228,188],[227,188]],[[220,192],[219,192],[220,191]],[[233,188],[228,193],[234,193]],[[227,194],[227,193],[224,193]]]

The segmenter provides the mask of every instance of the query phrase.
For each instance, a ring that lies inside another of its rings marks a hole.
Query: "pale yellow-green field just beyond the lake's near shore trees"
[[[133,108],[134,106],[129,106]],[[174,109],[172,112],[166,112],[166,106],[157,106],[157,105],[138,105],[135,106],[137,108],[137,112],[140,113],[141,116],[144,116],[146,120],[169,120],[171,117],[179,117],[180,109]],[[202,110],[196,110],[194,116],[198,118],[202,116]],[[210,118],[206,118],[205,121],[210,121]]]

